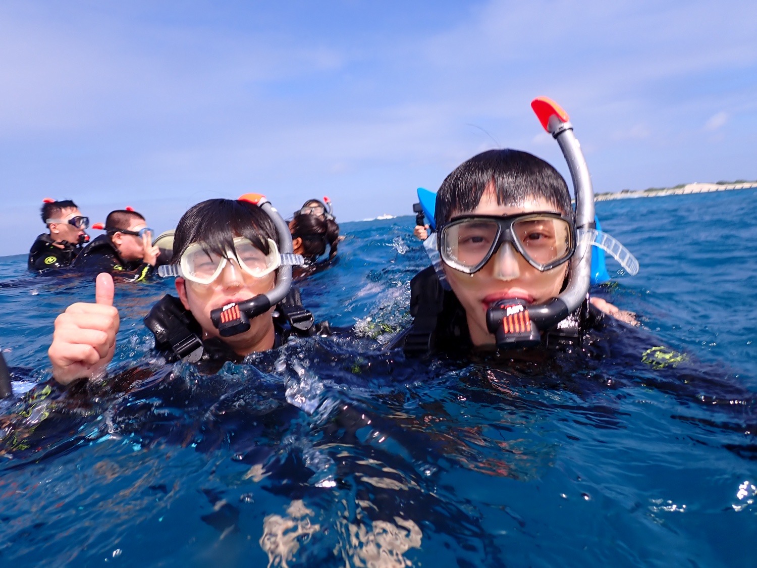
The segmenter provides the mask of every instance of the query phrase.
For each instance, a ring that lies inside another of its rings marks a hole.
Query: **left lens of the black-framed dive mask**
[[[453,268],[475,268],[491,255],[498,235],[499,224],[493,220],[451,223],[441,233],[442,257]]]

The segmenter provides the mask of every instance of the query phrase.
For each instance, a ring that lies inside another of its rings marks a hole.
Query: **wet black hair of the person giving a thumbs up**
[[[226,256],[226,251],[236,252],[236,237],[250,239],[263,254],[270,252],[268,239],[281,245],[273,220],[257,205],[236,199],[202,201],[179,219],[173,234],[171,264],[179,264],[184,251],[195,242],[208,254]]]

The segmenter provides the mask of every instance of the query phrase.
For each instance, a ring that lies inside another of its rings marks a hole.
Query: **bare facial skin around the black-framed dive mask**
[[[534,211],[557,211],[544,198],[527,198],[519,204],[497,204],[497,194],[489,186],[473,211],[455,211],[452,217],[462,214],[513,215]],[[522,298],[529,304],[539,304],[554,298],[562,289],[569,263],[541,272],[516,251],[512,244],[503,242],[499,250],[474,274],[465,274],[442,264],[447,281],[466,311],[466,320],[473,345],[495,345],[494,335],[486,326],[486,311],[494,301],[505,298]]]

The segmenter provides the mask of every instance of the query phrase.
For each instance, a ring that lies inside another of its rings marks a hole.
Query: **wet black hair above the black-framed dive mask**
[[[568,185],[554,167],[528,152],[503,149],[475,155],[444,179],[436,194],[436,225],[444,226],[453,214],[473,211],[490,183],[497,204],[544,198],[568,219],[575,217]]]

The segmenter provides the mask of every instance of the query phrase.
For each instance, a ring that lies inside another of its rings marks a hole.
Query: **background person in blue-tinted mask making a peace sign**
[[[107,214],[105,234],[98,236],[79,254],[73,267],[130,276],[139,282],[151,276],[160,249],[152,244],[152,229],[145,217],[130,208]]]

